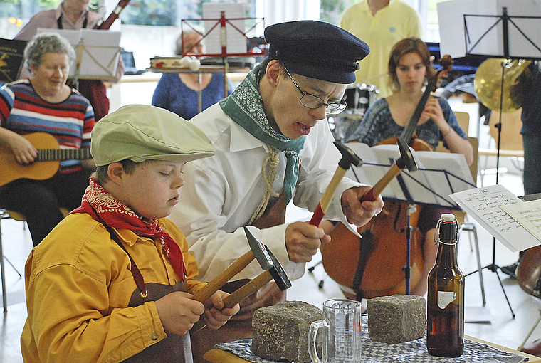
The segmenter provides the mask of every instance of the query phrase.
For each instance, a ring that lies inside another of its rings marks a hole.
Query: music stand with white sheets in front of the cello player
[[[356,154],[363,156],[362,167],[350,169],[347,177],[374,185],[387,172],[395,159],[401,157],[396,145],[379,145],[369,147],[360,142],[347,144]],[[382,198],[406,204],[421,204],[424,206],[439,206],[461,210],[449,195],[457,191],[475,188],[470,169],[462,154],[449,152],[414,152],[418,164],[416,172],[403,170],[396,179],[391,181],[382,192]],[[406,280],[406,295],[409,294],[410,278],[410,233],[411,225],[407,214],[406,228],[406,265],[404,275]]]

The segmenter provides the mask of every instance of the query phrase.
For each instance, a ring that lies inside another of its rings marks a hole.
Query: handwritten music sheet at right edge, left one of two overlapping
[[[523,204],[501,185],[470,189],[451,195],[469,215],[512,252],[537,246],[540,241],[500,206]]]

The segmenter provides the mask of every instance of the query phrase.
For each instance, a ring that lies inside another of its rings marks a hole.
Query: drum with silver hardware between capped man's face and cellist
[[[342,142],[351,135],[364,117],[364,112],[379,100],[379,90],[375,85],[354,83],[348,85],[344,99],[347,108],[334,117],[328,117],[330,129],[336,141]]]

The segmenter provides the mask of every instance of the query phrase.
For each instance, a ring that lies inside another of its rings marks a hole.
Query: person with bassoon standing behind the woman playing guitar
[[[17,33],[14,39],[28,41],[36,35],[38,28],[50,29],[92,29],[100,19],[100,15],[88,11],[90,0],[63,0],[57,9],[43,10],[30,18],[30,21]],[[124,74],[124,63],[119,58],[117,67],[117,81]],[[21,73],[21,78],[28,74]],[[75,85],[73,85],[75,87]],[[109,98],[107,87],[101,80],[78,80],[76,88],[84,95],[93,107],[95,120],[99,121],[109,112]]]

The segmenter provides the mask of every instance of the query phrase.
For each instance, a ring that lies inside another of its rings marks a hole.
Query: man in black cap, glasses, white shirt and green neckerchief
[[[325,115],[345,109],[346,85],[354,82],[357,60],[369,48],[320,21],[278,23],[266,28],[265,38],[268,58],[228,98],[191,119],[216,154],[186,165],[180,203],[187,208],[174,208],[171,219],[186,233],[203,281],[248,251],[244,225],[258,228],[254,233],[290,279],[300,278],[305,263],[330,241],[323,228],[308,222],[286,224],[285,206],[293,200],[314,211],[330,183],[341,156]],[[381,199],[359,202],[368,189],[342,180],[325,216],[356,231],[383,206]],[[251,263],[224,290],[231,293],[259,273]],[[253,310],[283,300],[275,283],[243,300],[241,312],[219,330],[192,335],[194,361],[216,342],[251,337]]]

